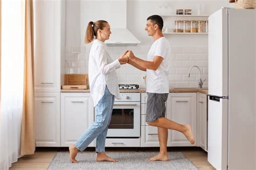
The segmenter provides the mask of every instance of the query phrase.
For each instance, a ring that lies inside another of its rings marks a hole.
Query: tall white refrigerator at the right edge
[[[255,169],[255,9],[208,18],[208,162]]]

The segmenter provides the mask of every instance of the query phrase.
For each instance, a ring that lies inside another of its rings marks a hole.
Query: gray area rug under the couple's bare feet
[[[107,152],[118,162],[97,162],[95,152],[79,152],[72,164],[69,152],[58,152],[48,169],[198,169],[181,152],[168,152],[169,161],[147,161],[158,152]]]

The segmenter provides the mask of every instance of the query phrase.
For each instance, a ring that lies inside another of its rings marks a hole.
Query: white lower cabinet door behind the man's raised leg
[[[167,119],[179,124],[190,124],[194,138],[197,139],[197,93],[170,93],[167,100]],[[167,146],[197,146],[191,145],[183,133],[169,130],[170,139]]]

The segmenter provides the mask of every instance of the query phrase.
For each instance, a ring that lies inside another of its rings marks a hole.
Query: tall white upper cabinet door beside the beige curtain
[[[63,46],[61,38],[62,1],[35,1],[33,4],[35,92],[60,92]]]

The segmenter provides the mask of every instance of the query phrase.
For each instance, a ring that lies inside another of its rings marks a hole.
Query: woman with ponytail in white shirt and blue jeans
[[[72,163],[78,162],[76,160],[78,151],[84,151],[95,138],[97,161],[117,161],[105,154],[105,140],[107,126],[111,120],[114,97],[119,97],[116,69],[121,64],[126,64],[128,58],[125,56],[127,52],[125,51],[117,60],[112,60],[104,43],[109,39],[110,34],[110,25],[106,21],[89,22],[87,26],[85,43],[93,42],[89,56],[89,83],[95,106],[95,121],[79,137],[76,144],[69,147]],[[93,40],[94,38],[95,40]]]

